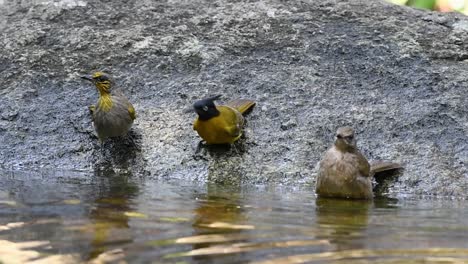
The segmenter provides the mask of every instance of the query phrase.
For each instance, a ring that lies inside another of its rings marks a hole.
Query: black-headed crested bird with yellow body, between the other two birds
[[[242,135],[243,114],[255,106],[255,102],[248,99],[236,99],[216,106],[214,101],[220,97],[205,98],[193,104],[198,115],[193,129],[207,145],[232,144],[237,141]]]

